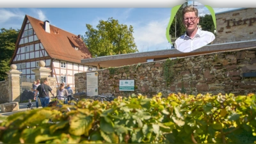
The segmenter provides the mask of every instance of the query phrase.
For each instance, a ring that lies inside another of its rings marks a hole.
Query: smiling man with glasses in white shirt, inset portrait
[[[211,43],[215,36],[209,31],[198,28],[198,10],[193,6],[186,6],[182,10],[183,24],[186,33],[175,40],[175,48],[180,52],[191,52]]]

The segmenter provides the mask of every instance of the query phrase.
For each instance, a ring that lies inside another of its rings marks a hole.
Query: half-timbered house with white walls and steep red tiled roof
[[[74,88],[74,74],[97,70],[81,63],[87,58],[92,55],[80,35],[52,26],[48,20],[43,22],[26,15],[10,64],[17,65],[21,79],[33,81],[32,70],[38,67],[38,61],[45,61],[45,67],[52,70],[49,77],[56,77],[57,84],[70,84]]]

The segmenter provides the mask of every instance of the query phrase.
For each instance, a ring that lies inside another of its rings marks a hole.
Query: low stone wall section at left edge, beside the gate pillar
[[[0,81],[0,104],[5,102],[9,102],[9,82],[8,81]]]

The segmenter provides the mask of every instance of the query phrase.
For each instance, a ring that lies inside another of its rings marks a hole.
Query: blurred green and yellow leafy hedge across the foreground
[[[3,143],[242,143],[256,136],[254,93],[162,93],[15,113],[0,124]],[[71,111],[66,111],[69,108]],[[53,123],[49,123],[49,119]],[[234,136],[236,134],[237,136]]]

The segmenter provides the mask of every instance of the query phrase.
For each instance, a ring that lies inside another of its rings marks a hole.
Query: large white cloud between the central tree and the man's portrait
[[[167,49],[172,45],[168,43],[166,38],[166,28],[169,18],[152,20],[146,24],[134,26],[134,41],[140,52],[154,51],[159,49]]]

